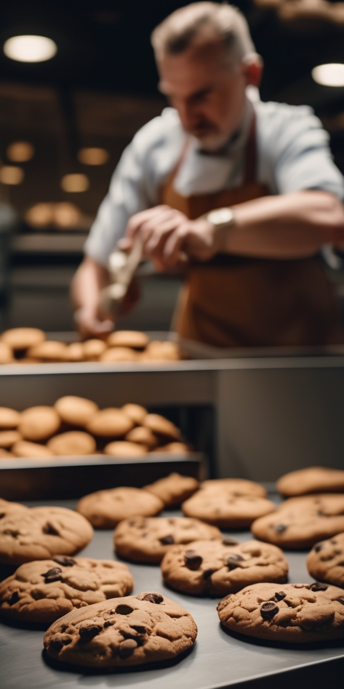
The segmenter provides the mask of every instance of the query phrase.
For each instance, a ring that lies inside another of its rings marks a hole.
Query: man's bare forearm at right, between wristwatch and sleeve
[[[235,225],[219,230],[219,251],[259,258],[303,258],[344,245],[344,206],[327,192],[264,196],[233,206]]]

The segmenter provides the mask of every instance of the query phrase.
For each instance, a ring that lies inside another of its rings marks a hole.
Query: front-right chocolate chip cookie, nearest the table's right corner
[[[344,596],[325,584],[253,584],[222,599],[219,619],[257,639],[309,644],[344,637]]]

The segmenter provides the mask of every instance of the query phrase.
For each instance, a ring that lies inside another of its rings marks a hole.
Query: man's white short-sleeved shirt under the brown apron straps
[[[204,154],[189,137],[175,189],[191,196],[241,184],[252,107],[257,122],[257,182],[266,184],[271,194],[322,189],[344,200],[344,178],[332,161],[329,135],[312,108],[261,101],[249,103],[241,131],[221,153]],[[186,136],[178,112],[167,107],[133,137],[89,232],[87,256],[106,266],[129,218],[161,203],[160,189],[180,158]]]

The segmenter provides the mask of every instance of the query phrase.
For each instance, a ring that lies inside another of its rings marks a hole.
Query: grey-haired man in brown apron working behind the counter
[[[123,154],[72,287],[83,336],[118,240],[164,270],[186,258],[177,329],[218,347],[343,342],[316,254],[344,243],[343,178],[309,107],[251,103],[261,59],[231,6],[193,3],[152,34],[172,108]],[[221,212],[213,212],[222,209]]]

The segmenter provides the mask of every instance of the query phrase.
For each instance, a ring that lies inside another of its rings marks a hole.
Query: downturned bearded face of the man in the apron
[[[160,90],[178,110],[184,130],[202,148],[221,148],[244,116],[245,65],[228,66],[222,45],[210,43],[158,61]]]

